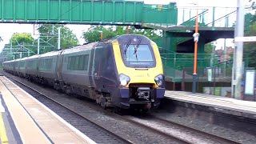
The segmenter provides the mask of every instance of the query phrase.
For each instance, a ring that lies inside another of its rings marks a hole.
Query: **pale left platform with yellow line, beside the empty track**
[[[1,143],[95,143],[4,76],[0,110]]]

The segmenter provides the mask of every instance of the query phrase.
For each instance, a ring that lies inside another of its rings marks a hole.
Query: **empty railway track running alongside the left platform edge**
[[[42,102],[45,106],[53,110],[56,114],[61,116],[66,122],[69,122],[72,126],[80,130],[83,134],[86,134],[89,138],[94,140],[97,143],[133,143],[129,140],[126,140],[120,137],[117,134],[114,134],[110,130],[97,125],[95,122],[90,121],[90,119],[78,114],[74,110],[70,110],[68,107],[62,105],[62,103],[55,101],[54,99],[48,97],[46,94],[42,94],[38,90],[34,90],[30,86],[27,86],[25,83],[19,82],[15,78],[10,76],[6,77],[11,78],[13,81],[26,86],[28,89],[33,90],[34,94],[31,94],[34,98],[38,99],[39,102]],[[2,80],[1,80],[2,81]],[[13,82],[12,81],[12,82]],[[17,84],[17,83],[15,83]],[[7,88],[7,87],[6,87]],[[24,87],[22,87],[23,89]],[[7,88],[8,89],[8,88]],[[28,89],[25,90],[28,92]],[[10,89],[8,89],[10,90]],[[24,90],[24,89],[23,89]],[[32,92],[33,92],[32,91]],[[31,93],[31,91],[30,91]],[[42,97],[43,96],[43,97]]]

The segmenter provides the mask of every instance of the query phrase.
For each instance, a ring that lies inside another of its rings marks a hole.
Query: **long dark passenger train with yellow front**
[[[165,94],[158,46],[138,34],[3,62],[3,70],[104,108],[150,110]]]

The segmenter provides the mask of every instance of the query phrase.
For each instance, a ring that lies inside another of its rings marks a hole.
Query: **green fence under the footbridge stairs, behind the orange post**
[[[194,54],[175,53],[159,49],[166,78],[173,82],[192,82],[194,69]],[[198,54],[198,81],[207,82],[209,70],[212,70],[216,81],[230,82],[232,76],[232,54]],[[245,62],[247,63],[247,62]],[[245,65],[246,66],[246,65]]]

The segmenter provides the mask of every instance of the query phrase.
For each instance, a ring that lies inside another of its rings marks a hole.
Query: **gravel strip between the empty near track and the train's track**
[[[17,77],[16,77],[17,78]],[[79,114],[89,118],[91,121],[100,124],[108,130],[111,130],[115,134],[122,135],[134,143],[178,143],[173,139],[166,138],[162,135],[154,134],[151,130],[144,129],[138,125],[134,125],[131,122],[126,122],[123,119],[114,117],[114,114],[106,114],[102,111],[94,110],[90,106],[86,106],[86,102],[82,102],[77,98],[66,96],[66,94],[60,94],[56,90],[49,88],[42,88],[38,85],[31,85],[31,82],[27,82],[26,79],[18,78],[21,82],[28,84],[35,90],[47,94],[48,97],[53,98],[55,101],[61,102],[64,106],[70,110],[79,111]]]

